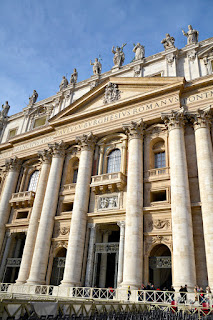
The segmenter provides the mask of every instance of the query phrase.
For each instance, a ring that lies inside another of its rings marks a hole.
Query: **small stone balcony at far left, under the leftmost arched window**
[[[24,191],[13,193],[9,202],[14,208],[29,208],[33,206],[34,198],[35,192]]]

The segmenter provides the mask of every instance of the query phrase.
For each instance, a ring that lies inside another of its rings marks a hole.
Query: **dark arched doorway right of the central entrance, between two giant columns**
[[[149,282],[161,290],[169,290],[172,285],[171,251],[164,244],[156,245],[150,252]]]

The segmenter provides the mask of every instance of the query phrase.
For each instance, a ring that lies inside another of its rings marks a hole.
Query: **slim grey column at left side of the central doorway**
[[[85,287],[92,286],[94,255],[95,255],[95,241],[96,241],[96,225],[93,223],[90,223],[89,228],[90,228],[90,239],[89,239],[88,257],[87,257]]]

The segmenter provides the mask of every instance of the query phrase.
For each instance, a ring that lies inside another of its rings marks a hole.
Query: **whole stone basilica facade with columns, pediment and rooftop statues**
[[[191,26],[189,26],[191,27]],[[213,289],[213,38],[34,90],[0,116],[0,281]]]

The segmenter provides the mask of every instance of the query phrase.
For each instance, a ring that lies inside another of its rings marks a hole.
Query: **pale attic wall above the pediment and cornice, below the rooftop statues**
[[[164,39],[165,40],[165,39]],[[78,100],[110,76],[118,77],[185,77],[190,81],[213,73],[213,38],[186,45],[182,49],[174,46],[149,57],[135,59],[124,66],[114,66],[103,74],[97,73],[89,79],[77,83],[75,73],[68,83],[64,77],[60,91],[49,98],[36,101],[33,93],[29,105],[22,112],[7,116],[0,114],[0,142],[9,141],[15,135],[36,130],[48,124],[48,120]]]

